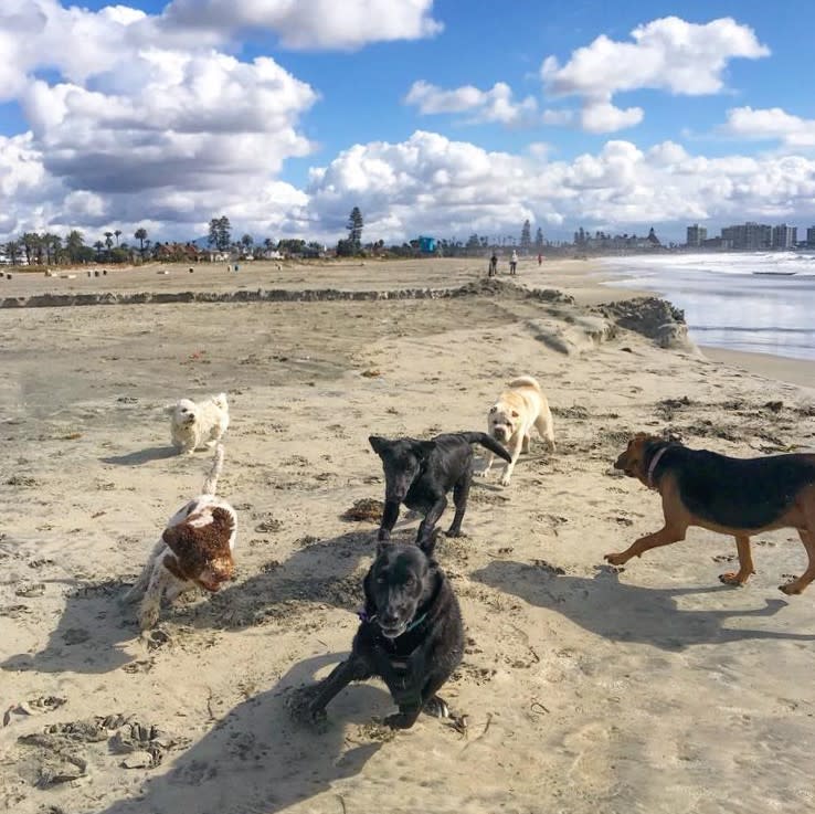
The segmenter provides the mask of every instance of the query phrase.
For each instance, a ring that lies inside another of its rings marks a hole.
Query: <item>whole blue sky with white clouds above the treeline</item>
[[[288,6],[4,0],[0,240],[815,223],[811,2]]]

